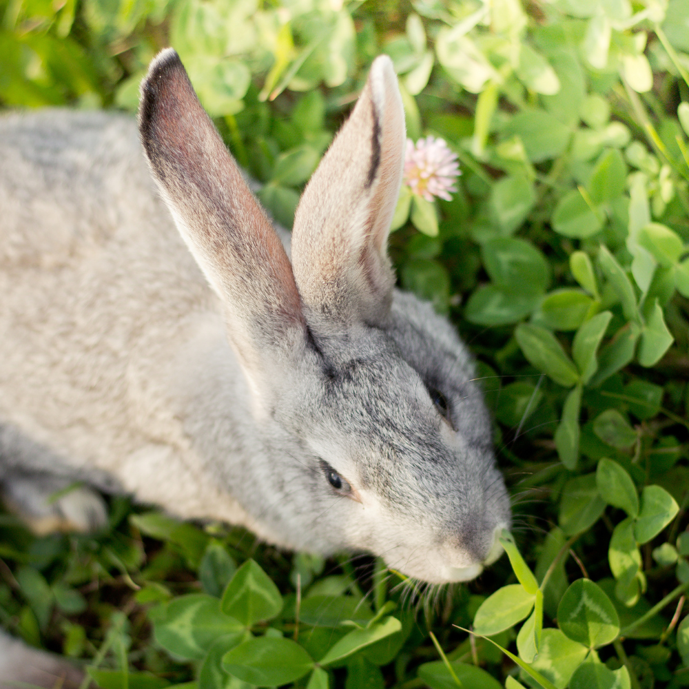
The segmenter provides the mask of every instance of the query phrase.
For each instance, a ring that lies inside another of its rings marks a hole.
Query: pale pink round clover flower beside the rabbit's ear
[[[407,139],[404,155],[404,184],[412,194],[432,201],[434,196],[451,200],[449,192],[456,192],[457,176],[462,174],[453,153],[442,138],[426,136],[414,145]]]

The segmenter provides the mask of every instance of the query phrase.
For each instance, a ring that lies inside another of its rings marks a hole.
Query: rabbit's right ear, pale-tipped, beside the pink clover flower
[[[387,317],[395,282],[387,236],[402,183],[405,136],[397,76],[381,55],[294,219],[294,276],[316,329],[338,322],[381,325]]]

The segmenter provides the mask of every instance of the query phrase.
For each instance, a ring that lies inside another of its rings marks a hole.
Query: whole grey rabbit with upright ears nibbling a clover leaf
[[[107,519],[94,489],[128,493],[433,583],[497,559],[510,501],[471,356],[387,256],[405,141],[379,56],[285,247],[170,48],[138,132],[125,114],[4,116],[8,504],[88,531]]]

